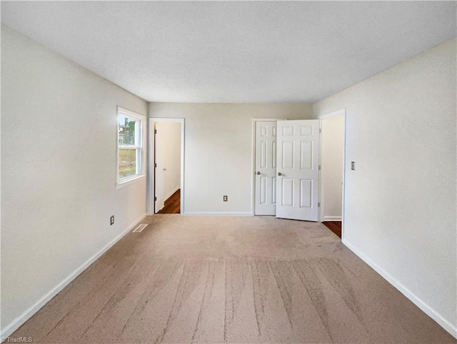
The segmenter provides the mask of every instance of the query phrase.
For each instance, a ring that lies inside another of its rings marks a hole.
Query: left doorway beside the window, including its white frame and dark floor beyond
[[[184,213],[184,118],[151,118],[149,214]]]

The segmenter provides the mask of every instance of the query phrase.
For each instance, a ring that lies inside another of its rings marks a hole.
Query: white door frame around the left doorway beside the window
[[[154,173],[155,168],[154,168],[154,138],[155,138],[155,133],[154,133],[154,124],[157,122],[177,122],[181,123],[181,214],[184,213],[184,118],[156,118],[156,117],[150,117],[149,118],[149,156],[148,156],[148,168],[149,168],[149,173],[148,173],[148,195],[147,195],[147,200],[148,200],[148,215],[154,215],[155,209],[154,209]]]

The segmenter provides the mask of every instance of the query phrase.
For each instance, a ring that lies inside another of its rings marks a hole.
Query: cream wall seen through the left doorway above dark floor
[[[163,171],[166,201],[181,186],[181,123],[156,122],[156,130],[156,162],[166,168]]]

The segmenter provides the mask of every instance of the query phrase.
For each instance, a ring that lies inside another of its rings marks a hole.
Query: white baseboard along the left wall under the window
[[[94,254],[94,256],[91,256],[88,260],[86,260],[79,268],[76,268],[72,273],[70,273],[64,280],[62,280],[59,284],[57,284],[54,288],[49,290],[48,293],[43,295],[34,305],[32,305],[30,308],[24,311],[21,315],[19,315],[16,319],[11,321],[8,325],[6,325],[5,328],[1,330],[0,333],[0,342],[5,340],[6,338],[11,335],[11,333],[14,333],[15,330],[17,330],[22,324],[24,324],[29,318],[31,318],[32,315],[34,315],[38,310],[40,310],[41,307],[46,305],[51,298],[54,298],[62,289],[66,287],[66,285],[69,285],[72,280],[74,280],[80,273],[82,273],[86,268],[89,268],[89,265],[94,263],[95,260],[100,258],[101,255],[103,255],[106,251],[111,248],[115,243],[117,243],[123,236],[125,236],[131,229],[134,228],[136,223],[139,223],[146,217],[146,213],[142,216],[140,216],[134,223],[132,223],[128,228],[126,228],[125,231],[123,231],[119,236],[116,236],[112,241],[110,241],[104,248],[101,248],[101,250],[97,253]]]

